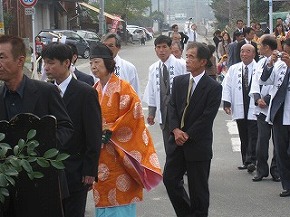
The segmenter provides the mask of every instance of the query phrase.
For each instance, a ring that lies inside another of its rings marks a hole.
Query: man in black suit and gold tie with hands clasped
[[[191,73],[175,77],[172,85],[171,135],[163,182],[177,216],[182,217],[208,216],[212,126],[222,94],[221,85],[205,74],[209,64],[208,47],[196,42],[189,44],[186,68]],[[189,195],[182,184],[186,171]]]

